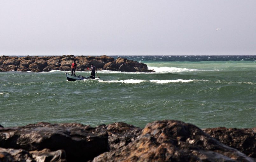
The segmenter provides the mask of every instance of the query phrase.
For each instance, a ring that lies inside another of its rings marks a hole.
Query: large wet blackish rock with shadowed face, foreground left
[[[26,151],[65,150],[67,161],[87,161],[109,150],[106,131],[77,123],[45,122],[0,128],[0,147]]]

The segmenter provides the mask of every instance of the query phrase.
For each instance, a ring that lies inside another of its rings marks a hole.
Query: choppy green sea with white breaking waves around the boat
[[[0,124],[122,121],[144,128],[168,119],[199,128],[256,127],[256,56],[112,57],[155,72],[103,70],[79,81],[67,81],[65,71],[0,72]]]

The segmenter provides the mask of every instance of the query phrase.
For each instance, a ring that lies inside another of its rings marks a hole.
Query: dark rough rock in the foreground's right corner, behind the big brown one
[[[256,127],[244,129],[218,127],[203,129],[203,131],[221,143],[256,158]]]

